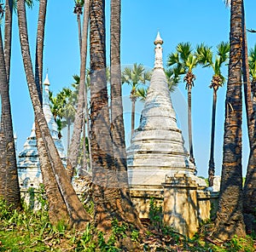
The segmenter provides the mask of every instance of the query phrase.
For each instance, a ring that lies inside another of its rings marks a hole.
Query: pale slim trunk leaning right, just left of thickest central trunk
[[[79,148],[81,133],[83,130],[84,123],[84,89],[85,89],[85,70],[86,70],[86,56],[87,56],[87,37],[88,37],[88,23],[89,23],[89,6],[90,1],[84,3],[84,20],[83,20],[83,38],[82,38],[82,49],[80,54],[80,83],[79,83],[79,101],[78,108],[75,114],[73,123],[73,135],[72,140],[68,149],[67,158],[67,172],[69,180],[72,180],[74,169],[78,163]],[[85,93],[85,95],[87,95]]]

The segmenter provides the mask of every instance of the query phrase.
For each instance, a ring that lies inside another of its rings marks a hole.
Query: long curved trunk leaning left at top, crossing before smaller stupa
[[[36,83],[32,72],[32,60],[30,55],[27,28],[26,28],[26,9],[24,0],[18,0],[18,21],[19,21],[19,31],[20,31],[20,46],[22,52],[22,58],[24,63],[24,68],[26,72],[26,81],[29,89],[29,93],[32,100],[32,106],[35,114],[36,123],[38,123],[38,129],[42,135],[42,140],[44,141],[44,148],[47,153],[46,157],[41,156],[41,160],[45,158],[45,163],[50,163],[50,168],[55,175],[55,180],[57,182],[58,188],[61,192],[61,198],[64,201],[67,208],[68,220],[63,220],[69,223],[70,226],[77,226],[78,228],[84,227],[85,223],[90,220],[90,216],[85,212],[82,203],[79,201],[76,193],[73,190],[73,186],[67,179],[66,171],[61,163],[61,158],[55,147],[55,143],[49,133],[49,128],[44,117],[44,112],[40,104],[38,97],[38,92],[36,89]],[[42,152],[38,152],[39,154]],[[44,168],[44,165],[42,165]],[[51,175],[44,170],[45,175],[48,177]],[[51,186],[51,185],[49,185]],[[58,197],[58,195],[56,195]],[[56,212],[59,206],[56,204]],[[65,209],[63,209],[65,211]]]

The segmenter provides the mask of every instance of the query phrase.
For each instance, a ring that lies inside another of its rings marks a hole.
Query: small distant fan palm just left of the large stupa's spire
[[[135,123],[135,103],[137,101],[137,88],[149,81],[151,77],[151,72],[146,72],[143,64],[133,64],[131,67],[125,67],[122,72],[122,83],[128,83],[131,85],[131,135],[134,131]]]

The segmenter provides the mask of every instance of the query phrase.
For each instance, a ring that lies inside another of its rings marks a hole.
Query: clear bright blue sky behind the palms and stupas
[[[109,12],[110,1],[106,1],[107,57],[109,58]],[[245,1],[247,28],[256,29],[254,0]],[[35,54],[38,3],[28,10],[28,28],[31,41],[31,53]],[[164,64],[167,55],[175,50],[177,43],[190,42],[193,47],[206,43],[215,48],[221,41],[229,41],[230,9],[222,0],[124,0],[122,3],[122,65],[143,63],[150,69],[154,65],[154,38],[160,31],[164,40]],[[248,46],[252,47],[256,35],[247,34]],[[26,77],[20,54],[20,42],[17,29],[17,17],[14,22],[14,48],[10,78],[10,94],[15,133],[18,136],[17,148],[21,151],[30,135],[33,122],[31,100],[26,86]],[[108,59],[109,60],[109,59]],[[49,1],[44,42],[44,76],[49,69],[50,89],[56,94],[63,87],[73,83],[73,74],[79,73],[79,43],[76,16],[73,14],[73,1]],[[227,76],[227,71],[224,70]],[[198,175],[207,176],[209,160],[210,130],[212,116],[212,72],[207,69],[195,70],[195,87],[192,89],[193,142],[195,163]],[[126,135],[130,134],[129,88],[124,86]],[[220,175],[223,135],[224,135],[224,88],[218,91],[218,109],[216,124],[215,164],[216,174]],[[179,126],[186,139],[186,90],[180,83],[173,95],[173,106],[177,112]],[[137,125],[142,104],[137,104]],[[246,121],[243,121],[244,126]],[[247,164],[247,132],[244,128],[243,170]]]

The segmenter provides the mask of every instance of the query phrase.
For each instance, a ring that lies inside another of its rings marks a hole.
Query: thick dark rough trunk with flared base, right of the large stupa
[[[242,0],[231,1],[230,63],[225,100],[224,153],[214,237],[244,237],[241,175]]]

